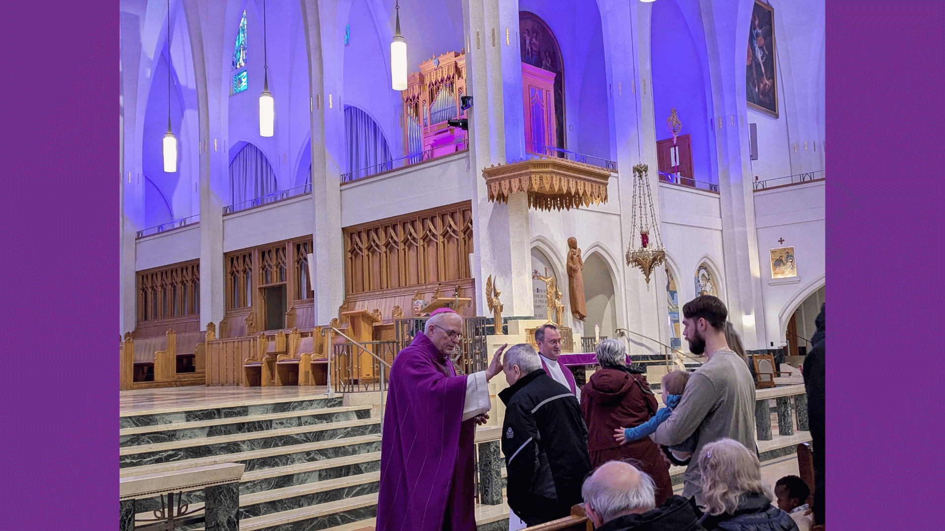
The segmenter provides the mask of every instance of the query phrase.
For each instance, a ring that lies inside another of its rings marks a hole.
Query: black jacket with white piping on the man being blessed
[[[575,395],[539,368],[499,393],[508,506],[528,525],[571,514],[591,471],[588,430]]]

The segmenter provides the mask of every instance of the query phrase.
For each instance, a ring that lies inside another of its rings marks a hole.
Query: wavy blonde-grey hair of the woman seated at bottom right
[[[699,452],[704,512],[733,514],[746,494],[762,494],[773,501],[774,493],[762,481],[758,456],[737,440],[720,438]]]

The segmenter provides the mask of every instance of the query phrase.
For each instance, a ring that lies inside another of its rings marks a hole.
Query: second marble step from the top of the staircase
[[[175,422],[156,426],[136,426],[119,431],[119,446],[159,444],[177,440],[220,437],[344,420],[369,419],[370,409],[369,405],[321,407],[246,417]]]

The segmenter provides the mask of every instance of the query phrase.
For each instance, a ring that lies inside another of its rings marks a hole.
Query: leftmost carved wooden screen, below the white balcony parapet
[[[195,316],[200,311],[199,261],[138,273],[138,320]]]

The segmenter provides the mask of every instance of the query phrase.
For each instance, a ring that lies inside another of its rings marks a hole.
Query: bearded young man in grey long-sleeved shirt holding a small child
[[[679,405],[650,436],[673,446],[698,431],[695,455],[714,440],[729,437],[755,448],[755,384],[742,360],[729,348],[725,322],[729,311],[712,295],[702,295],[682,307],[682,334],[689,351],[705,354],[706,362],[689,377]],[[701,474],[692,459],[683,475],[682,495],[702,505]]]

